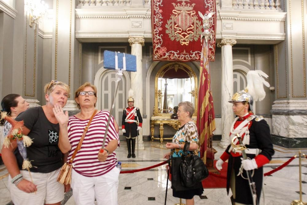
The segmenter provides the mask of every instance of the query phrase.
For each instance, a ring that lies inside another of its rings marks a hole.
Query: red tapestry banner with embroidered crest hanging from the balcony
[[[203,22],[198,12],[216,11],[215,0],[152,0],[153,60],[200,61]],[[213,39],[208,60],[214,61],[216,14],[209,19]]]

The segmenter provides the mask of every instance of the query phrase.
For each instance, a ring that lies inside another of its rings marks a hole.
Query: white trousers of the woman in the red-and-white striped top
[[[87,177],[72,169],[72,195],[77,205],[117,205],[119,168],[101,176]]]

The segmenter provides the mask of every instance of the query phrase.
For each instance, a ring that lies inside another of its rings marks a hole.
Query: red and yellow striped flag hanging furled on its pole
[[[199,92],[196,126],[200,141],[200,157],[203,157],[203,161],[206,163],[207,142],[208,139],[212,137],[212,132],[215,130],[215,116],[211,92],[207,46],[205,39],[203,39],[203,41],[200,58],[200,83],[198,88]],[[208,151],[211,152],[211,150]],[[212,153],[210,155],[212,155]]]

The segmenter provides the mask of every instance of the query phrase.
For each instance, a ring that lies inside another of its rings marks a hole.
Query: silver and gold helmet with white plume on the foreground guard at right
[[[270,87],[270,84],[264,80],[264,78],[269,77],[261,70],[250,70],[247,73],[247,87],[244,90],[241,90],[235,93],[230,103],[234,102],[243,102],[246,101],[250,105],[250,109],[253,110],[254,101],[262,101],[266,96],[266,92],[263,88],[263,85]]]

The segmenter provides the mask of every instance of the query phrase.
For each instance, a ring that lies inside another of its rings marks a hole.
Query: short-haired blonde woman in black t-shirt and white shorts
[[[22,133],[33,140],[27,148],[27,157],[33,167],[22,170],[22,157],[16,140],[9,148],[2,147],[2,159],[9,171],[9,190],[14,204],[54,204],[60,205],[64,199],[64,185],[56,182],[63,165],[63,154],[58,147],[59,124],[52,108],[55,104],[64,107],[70,89],[59,81],[45,85],[46,105],[29,108],[16,121],[24,120]],[[67,158],[67,156],[66,156]],[[65,187],[68,191],[70,187]],[[35,194],[33,193],[35,192]]]

